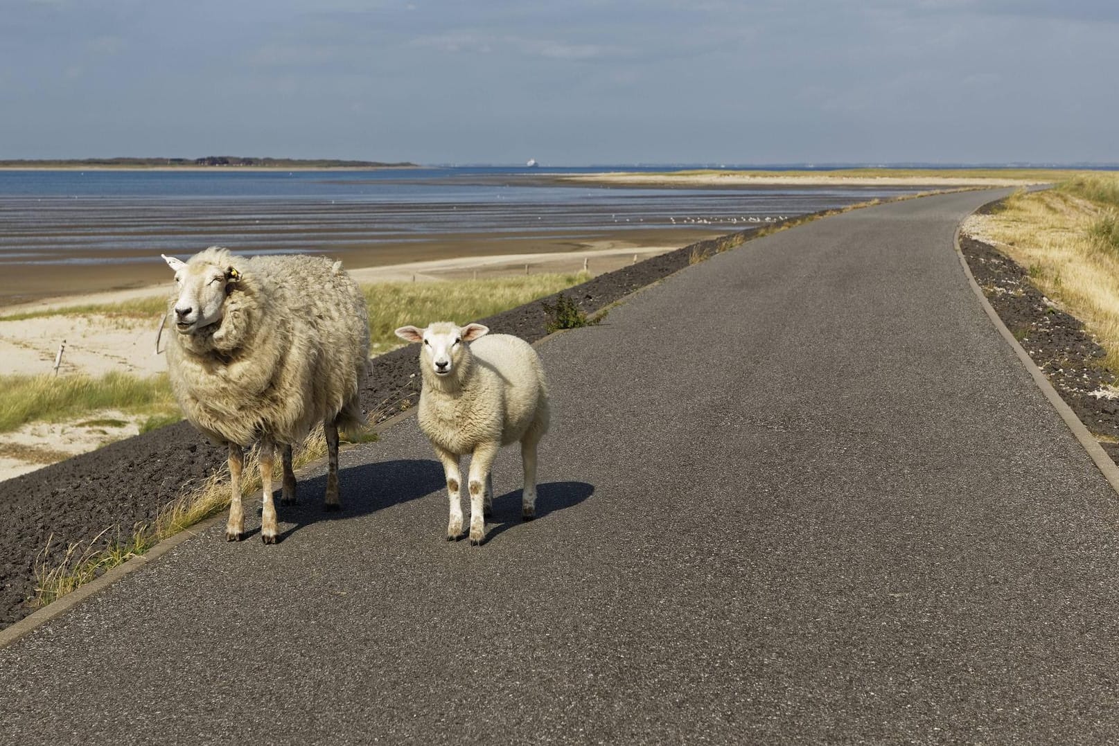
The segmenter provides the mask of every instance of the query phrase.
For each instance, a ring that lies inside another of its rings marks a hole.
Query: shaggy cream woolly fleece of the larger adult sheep
[[[250,445],[262,434],[298,443],[338,415],[365,423],[358,390],[369,330],[357,284],[321,256],[239,257],[224,248],[188,266],[233,267],[223,319],[168,344],[171,388],[186,417],[210,438]]]

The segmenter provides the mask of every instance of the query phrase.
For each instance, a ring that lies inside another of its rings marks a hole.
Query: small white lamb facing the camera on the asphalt
[[[490,466],[502,445],[520,441],[525,468],[521,516],[536,517],[536,445],[548,429],[548,391],[536,350],[509,334],[487,334],[472,323],[433,323],[426,329],[401,327],[396,336],[422,342],[420,429],[443,463],[451,514],[448,540],[462,533],[459,459],[470,461],[470,545],[486,538],[491,513]],[[480,339],[479,339],[480,338]],[[477,340],[477,341],[476,341]]]

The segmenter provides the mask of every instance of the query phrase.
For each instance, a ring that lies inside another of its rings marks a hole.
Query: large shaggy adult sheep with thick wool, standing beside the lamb
[[[175,329],[167,347],[171,389],[187,419],[229,452],[232,499],[225,537],[245,535],[244,447],[260,443],[261,538],[276,541],[275,450],[283,497],[295,501],[292,445],[321,422],[329,466],[325,508],[337,510],[338,428],[359,427],[358,390],[368,370],[365,298],[341,263],[321,256],[234,256],[211,246],[175,270]]]

